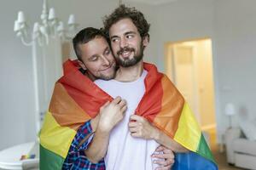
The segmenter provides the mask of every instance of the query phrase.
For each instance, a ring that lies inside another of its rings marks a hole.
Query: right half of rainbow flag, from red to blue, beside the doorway
[[[146,93],[136,114],[146,117],[177,143],[199,155],[180,154],[179,159],[189,156],[190,161],[200,160],[201,167],[196,169],[218,169],[195,116],[182,94],[154,65],[144,64],[144,68],[148,71],[145,79]],[[189,161],[184,162],[189,165]]]

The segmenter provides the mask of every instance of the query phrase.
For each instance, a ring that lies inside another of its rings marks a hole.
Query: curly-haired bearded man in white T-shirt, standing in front
[[[96,130],[94,139],[86,151],[87,156],[90,160],[98,161],[108,150],[105,156],[107,169],[153,169],[151,155],[159,144],[175,152],[188,150],[155,128],[146,118],[135,114],[146,93],[144,81],[148,71],[143,68],[143,50],[149,41],[148,22],[136,9],[121,5],[106,18],[104,25],[119,69],[114,79],[98,79],[95,83],[113,98],[120,96],[125,99],[127,111],[121,122],[115,127],[110,127],[113,128],[111,133],[110,130],[103,133]],[[105,136],[107,137],[102,139]],[[103,154],[96,154],[102,150]],[[160,163],[164,165],[164,162]]]

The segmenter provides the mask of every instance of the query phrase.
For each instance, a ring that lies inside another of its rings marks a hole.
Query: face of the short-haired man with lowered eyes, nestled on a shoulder
[[[79,50],[82,60],[79,64],[87,70],[90,77],[109,80],[115,76],[115,60],[104,37],[79,44]]]

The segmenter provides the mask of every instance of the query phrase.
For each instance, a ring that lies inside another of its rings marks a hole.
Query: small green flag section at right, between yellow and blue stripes
[[[209,149],[206,139],[204,138],[202,133],[201,133],[200,143],[198,145],[196,152],[201,156],[204,156],[207,159],[215,162],[212,156],[212,151]]]

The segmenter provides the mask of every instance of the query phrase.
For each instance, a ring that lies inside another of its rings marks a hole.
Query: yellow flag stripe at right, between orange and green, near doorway
[[[187,102],[184,103],[174,139],[189,150],[196,151],[201,138],[201,130]]]

